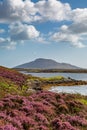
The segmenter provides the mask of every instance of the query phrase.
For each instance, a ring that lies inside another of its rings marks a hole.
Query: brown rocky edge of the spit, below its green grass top
[[[34,79],[28,80],[27,85],[34,90],[43,90],[45,86],[74,86],[74,85],[87,85],[87,81],[75,80],[69,78],[64,78],[61,80],[41,80]]]

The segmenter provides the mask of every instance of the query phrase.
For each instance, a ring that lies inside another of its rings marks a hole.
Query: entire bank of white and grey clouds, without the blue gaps
[[[62,25],[58,31],[52,32],[50,37],[48,35],[49,41],[65,42],[79,48],[85,47],[87,8],[72,9],[68,3],[62,3],[59,0],[40,0],[36,3],[31,0],[0,1],[0,23],[9,25],[9,36],[4,38],[0,35],[0,46],[8,47],[9,44],[9,47],[13,48],[18,40],[48,40],[45,36],[41,37],[43,32],[37,30],[33,23],[39,24],[39,22],[49,21],[70,22],[70,24]],[[3,33],[5,30],[0,29],[0,34]]]

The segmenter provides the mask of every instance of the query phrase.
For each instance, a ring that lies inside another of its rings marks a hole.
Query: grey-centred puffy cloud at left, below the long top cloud
[[[9,26],[9,38],[0,38],[0,47],[8,50],[15,49],[18,43],[23,44],[25,40],[39,39],[40,32],[32,25],[13,23]]]

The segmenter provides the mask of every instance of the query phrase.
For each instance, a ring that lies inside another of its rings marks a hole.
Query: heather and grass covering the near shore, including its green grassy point
[[[26,76],[0,67],[0,130],[87,130],[87,96],[41,87],[71,80]]]

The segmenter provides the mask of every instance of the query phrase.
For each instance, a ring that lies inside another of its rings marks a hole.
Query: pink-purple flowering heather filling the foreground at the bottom
[[[80,102],[86,98],[47,91],[8,95],[0,99],[0,130],[87,130],[87,105]]]

